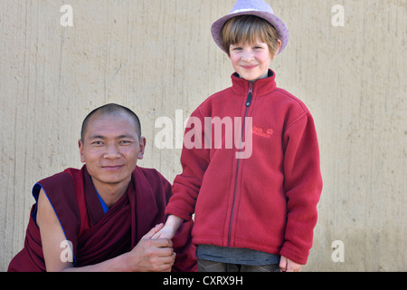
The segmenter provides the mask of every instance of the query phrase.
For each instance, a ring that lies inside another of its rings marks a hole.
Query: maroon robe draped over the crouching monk
[[[171,197],[171,185],[160,173],[139,167],[132,174],[127,193],[107,213],[103,212],[86,166],[41,180],[33,187],[35,200],[42,188],[66,240],[71,241],[73,266],[94,265],[130,251],[152,227],[165,222],[166,204]],[[14,256],[8,271],[46,270],[35,219],[36,204],[31,210],[24,249]],[[196,271],[192,226],[190,222],[183,224],[173,239],[173,271]]]

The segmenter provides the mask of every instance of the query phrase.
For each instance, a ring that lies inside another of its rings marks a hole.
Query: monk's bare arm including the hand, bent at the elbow
[[[174,265],[175,253],[171,240],[151,239],[163,225],[154,227],[143,237],[130,252],[109,259],[102,263],[73,267],[71,262],[64,262],[61,254],[64,249],[61,243],[66,239],[55,211],[43,189],[40,191],[37,208],[37,225],[40,227],[43,243],[45,266],[49,272],[60,271],[90,271],[90,272],[141,272],[141,271],[171,271]]]

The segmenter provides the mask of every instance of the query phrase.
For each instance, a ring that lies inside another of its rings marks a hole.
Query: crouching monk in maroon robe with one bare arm
[[[172,194],[156,169],[137,166],[145,148],[133,111],[91,111],[79,140],[85,165],[34,185],[24,248],[8,271],[196,271],[192,223],[173,240],[151,239]]]

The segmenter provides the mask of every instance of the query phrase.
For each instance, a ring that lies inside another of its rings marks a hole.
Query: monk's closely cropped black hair
[[[137,117],[137,114],[134,111],[131,111],[130,109],[128,109],[127,107],[124,107],[117,103],[108,103],[99,108],[96,108],[93,111],[90,111],[88,116],[86,116],[85,120],[83,120],[83,122],[82,122],[82,128],[80,130],[80,140],[82,140],[82,141],[84,140],[85,132],[88,127],[88,122],[90,121],[90,117],[92,117],[93,115],[95,115],[97,113],[103,115],[103,114],[116,114],[116,113],[123,113],[123,112],[128,114],[128,116],[130,116],[131,119],[134,121],[134,123],[136,125],[138,139],[140,139],[141,138],[141,124],[140,124],[140,120]]]

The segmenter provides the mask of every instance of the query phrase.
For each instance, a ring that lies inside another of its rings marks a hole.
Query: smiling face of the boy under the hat
[[[250,82],[268,76],[270,61],[275,56],[270,53],[269,45],[259,40],[251,44],[232,44],[229,52],[235,72]]]

